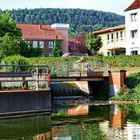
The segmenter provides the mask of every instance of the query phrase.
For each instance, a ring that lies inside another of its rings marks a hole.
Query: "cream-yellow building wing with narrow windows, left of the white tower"
[[[106,28],[94,32],[102,38],[99,54],[105,56],[125,54],[125,26]]]

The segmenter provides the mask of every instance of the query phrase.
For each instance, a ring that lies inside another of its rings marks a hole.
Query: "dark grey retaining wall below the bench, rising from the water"
[[[50,91],[24,91],[0,93],[0,116],[37,112],[51,109]]]

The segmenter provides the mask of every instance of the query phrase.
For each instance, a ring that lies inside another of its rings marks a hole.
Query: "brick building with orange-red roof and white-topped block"
[[[51,26],[42,24],[17,24],[23,38],[33,48],[43,48],[43,56],[52,56],[52,48],[56,38],[61,42],[62,52],[68,52],[69,24],[56,23]]]

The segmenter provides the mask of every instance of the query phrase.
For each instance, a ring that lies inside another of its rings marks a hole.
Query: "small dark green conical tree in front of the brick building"
[[[61,51],[61,43],[60,41],[57,39],[54,41],[54,47],[52,49],[52,55],[54,57],[60,57],[62,55],[62,51]]]

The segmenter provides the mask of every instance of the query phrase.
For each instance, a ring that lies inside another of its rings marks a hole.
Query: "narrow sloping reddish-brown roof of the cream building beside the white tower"
[[[98,35],[98,34],[104,34],[104,33],[112,32],[112,31],[118,31],[118,30],[124,30],[124,29],[125,29],[125,25],[119,25],[119,26],[110,27],[110,28],[95,31],[94,34]]]

